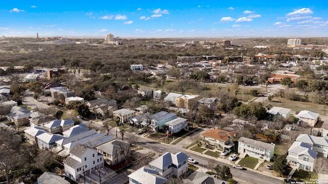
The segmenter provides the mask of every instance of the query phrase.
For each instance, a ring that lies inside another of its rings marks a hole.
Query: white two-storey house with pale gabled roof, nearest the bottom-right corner
[[[288,149],[286,159],[292,166],[312,172],[317,155],[311,145],[295,141]]]

